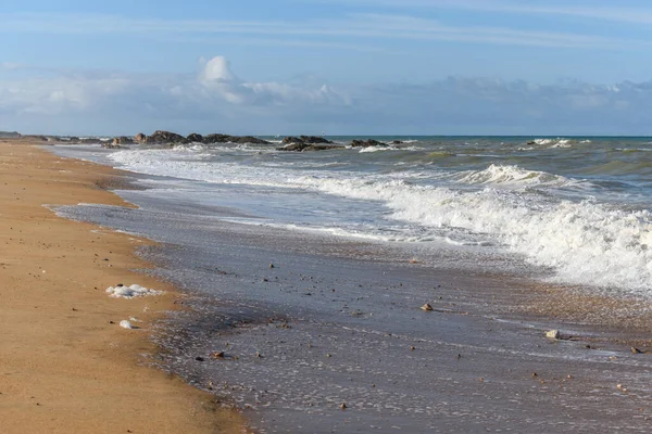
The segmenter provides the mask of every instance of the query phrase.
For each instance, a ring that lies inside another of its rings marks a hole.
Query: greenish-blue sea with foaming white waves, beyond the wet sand
[[[507,254],[555,283],[652,296],[652,139],[383,137],[401,143],[302,153],[267,139],[60,152],[155,176],[142,194],[241,209],[240,224]]]

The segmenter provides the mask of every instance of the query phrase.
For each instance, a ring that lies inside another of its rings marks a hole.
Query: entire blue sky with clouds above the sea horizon
[[[0,130],[652,135],[642,0],[0,1]]]

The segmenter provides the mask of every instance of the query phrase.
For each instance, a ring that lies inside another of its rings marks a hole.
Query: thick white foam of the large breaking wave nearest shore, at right
[[[652,216],[584,201],[546,204],[512,191],[476,192],[397,182],[322,181],[335,194],[384,200],[396,219],[436,228],[463,228],[494,237],[531,263],[552,267],[569,283],[618,286],[640,294],[652,288]]]

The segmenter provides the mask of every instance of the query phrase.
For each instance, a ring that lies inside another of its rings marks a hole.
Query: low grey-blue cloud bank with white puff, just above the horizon
[[[16,74],[17,69],[21,74]],[[28,71],[29,74],[24,74]],[[423,84],[248,81],[222,56],[187,75],[0,64],[0,129],[113,135],[652,135],[652,81],[553,85],[450,77]]]

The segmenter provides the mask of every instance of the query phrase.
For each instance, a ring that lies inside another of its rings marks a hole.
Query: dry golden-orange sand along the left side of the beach
[[[134,255],[147,241],[43,206],[127,205],[99,187],[116,174],[0,140],[0,431],[247,432],[239,413],[145,366],[149,329],[179,296],[131,271],[148,267]],[[121,282],[166,294],[110,298],[104,290]],[[140,330],[118,327],[129,317]]]

